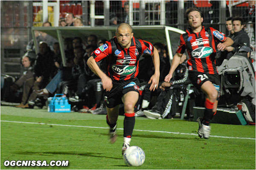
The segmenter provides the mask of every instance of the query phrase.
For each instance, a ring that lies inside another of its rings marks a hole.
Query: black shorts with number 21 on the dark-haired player
[[[218,98],[220,98],[220,77],[218,74],[207,74],[207,73],[201,73],[198,71],[189,71],[189,79],[192,82],[192,84],[198,88],[198,90],[201,91],[201,86],[204,84],[206,81],[212,82],[214,85],[215,89],[218,91]]]

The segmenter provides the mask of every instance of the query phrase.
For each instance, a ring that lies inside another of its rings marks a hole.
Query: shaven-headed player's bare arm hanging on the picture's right
[[[151,86],[149,87],[150,91],[152,90],[154,91],[155,89],[157,89],[158,83],[159,83],[159,76],[160,76],[160,59],[159,59],[157,48],[155,47],[154,47],[152,58],[154,62],[155,73],[151,76],[150,80],[148,81],[148,84],[152,82]]]

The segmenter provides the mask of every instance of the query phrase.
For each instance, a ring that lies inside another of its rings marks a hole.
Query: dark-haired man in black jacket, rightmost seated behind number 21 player
[[[233,56],[236,52],[239,51],[239,48],[243,45],[250,47],[250,38],[248,34],[242,29],[243,28],[243,20],[240,17],[236,17],[232,19],[234,36],[232,37],[234,43],[231,46],[225,48],[227,51],[231,51],[232,55],[228,56],[227,59]],[[249,57],[249,56],[248,56]]]

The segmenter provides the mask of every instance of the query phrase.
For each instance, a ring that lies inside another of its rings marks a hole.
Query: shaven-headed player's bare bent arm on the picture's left
[[[112,79],[110,77],[108,77],[99,68],[99,66],[97,65],[96,61],[94,60],[94,58],[92,56],[87,60],[87,65],[90,67],[90,69],[93,71],[93,73],[96,74],[97,76],[99,76],[99,78],[102,80],[103,89],[106,91],[110,91],[111,88],[113,87]]]

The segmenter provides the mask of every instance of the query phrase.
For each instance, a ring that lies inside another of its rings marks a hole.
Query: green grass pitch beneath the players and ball
[[[212,124],[212,137],[200,139],[196,135],[197,122],[180,119],[151,120],[143,117],[136,118],[131,145],[141,147],[146,159],[141,167],[127,167],[121,155],[123,119],[124,116],[119,116],[118,139],[116,143],[110,144],[105,115],[48,113],[47,110],[42,109],[1,106],[0,168],[256,168],[255,126]],[[6,160],[46,160],[47,163],[51,160],[69,160],[69,165],[67,167],[5,167],[3,163]]]

